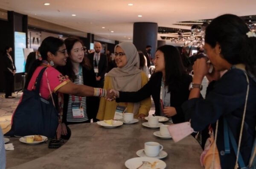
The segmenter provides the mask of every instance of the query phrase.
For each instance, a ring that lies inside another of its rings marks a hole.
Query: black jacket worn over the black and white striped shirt
[[[65,70],[64,70],[65,71]],[[62,74],[66,74],[65,72]],[[93,69],[87,70],[83,67],[83,81],[84,85],[96,87],[95,73]],[[62,122],[67,122],[67,103],[68,94],[64,94],[64,106],[63,106],[63,117]],[[86,97],[86,112],[89,119],[96,116],[99,109],[99,97]]]

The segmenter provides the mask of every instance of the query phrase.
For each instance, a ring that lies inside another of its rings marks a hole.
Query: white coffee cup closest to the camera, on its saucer
[[[162,149],[163,146],[157,142],[150,141],[144,144],[144,152],[148,157],[156,157]]]

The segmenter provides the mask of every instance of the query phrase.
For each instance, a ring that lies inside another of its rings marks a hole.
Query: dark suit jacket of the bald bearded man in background
[[[93,57],[94,57],[94,52],[91,54],[88,54],[88,58],[90,59],[91,65],[94,65]],[[98,64],[98,70],[99,70],[98,76],[101,76],[101,80],[104,79],[105,73],[107,72],[107,68],[108,68],[107,56],[101,53],[99,57],[99,64]]]

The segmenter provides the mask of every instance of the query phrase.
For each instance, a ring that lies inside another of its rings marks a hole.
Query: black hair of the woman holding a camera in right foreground
[[[207,26],[205,42],[212,48],[218,43],[221,54],[232,65],[243,63],[256,76],[256,37],[248,37],[249,28],[238,16],[224,14]]]

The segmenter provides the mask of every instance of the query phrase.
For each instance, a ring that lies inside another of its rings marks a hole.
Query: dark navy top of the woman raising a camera
[[[249,163],[256,126],[256,82],[250,76],[249,81],[250,89],[240,149],[245,165]],[[186,120],[191,118],[191,126],[195,131],[203,130],[209,124],[212,124],[215,130],[215,122],[219,119],[217,147],[222,169],[233,169],[236,161],[231,142],[230,154],[224,153],[223,117],[227,119],[227,124],[238,143],[246,90],[244,72],[232,68],[215,82],[205,99],[190,99],[182,105]]]

